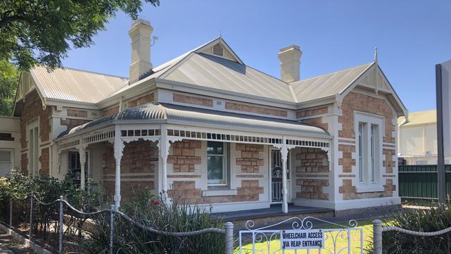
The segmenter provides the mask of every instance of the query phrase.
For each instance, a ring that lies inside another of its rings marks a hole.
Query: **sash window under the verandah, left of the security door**
[[[227,185],[227,144],[207,142],[207,183]]]

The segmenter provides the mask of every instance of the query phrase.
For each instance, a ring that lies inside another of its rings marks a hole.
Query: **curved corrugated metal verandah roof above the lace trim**
[[[187,107],[182,105],[173,105],[167,103],[148,103],[134,108],[128,108],[117,114],[102,117],[66,130],[59,137],[78,133],[92,126],[102,124],[108,121],[120,120],[167,120],[198,124],[201,126],[217,126],[218,128],[241,129],[241,130],[268,130],[271,133],[285,133],[289,135],[299,135],[304,137],[323,137],[329,138],[327,131],[303,124],[298,121],[284,119],[275,119],[270,117],[257,117],[252,115],[243,115],[231,112],[222,112],[217,110],[207,110],[203,108]]]

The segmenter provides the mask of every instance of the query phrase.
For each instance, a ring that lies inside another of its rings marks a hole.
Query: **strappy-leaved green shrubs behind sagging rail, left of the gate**
[[[204,228],[222,228],[223,223],[198,205],[167,203],[164,195],[155,197],[149,191],[124,204],[121,211],[135,221],[155,230],[189,232]],[[115,215],[114,253],[224,253],[224,236],[218,233],[196,237],[169,237],[146,232]],[[109,248],[109,214],[96,221],[85,248],[90,253],[103,253]]]

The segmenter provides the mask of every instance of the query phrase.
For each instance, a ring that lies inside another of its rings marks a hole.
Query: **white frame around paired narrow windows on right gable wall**
[[[362,144],[359,142],[359,126],[363,126]],[[375,133],[372,129],[374,128]],[[356,176],[357,192],[383,192],[383,151],[385,135],[385,119],[379,115],[373,115],[366,112],[354,112],[354,130],[356,135]],[[373,147],[372,147],[373,144]],[[373,150],[373,156],[371,156]],[[364,155],[360,153],[363,152]],[[372,158],[373,157],[373,158]],[[362,164],[363,162],[363,164]],[[372,165],[374,165],[374,179],[372,177]],[[360,170],[363,176],[360,174]]]

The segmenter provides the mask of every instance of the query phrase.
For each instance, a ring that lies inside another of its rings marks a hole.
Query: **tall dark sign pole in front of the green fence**
[[[436,103],[437,103],[437,180],[439,203],[446,203],[446,173],[443,149],[443,85],[441,65],[435,65]]]

